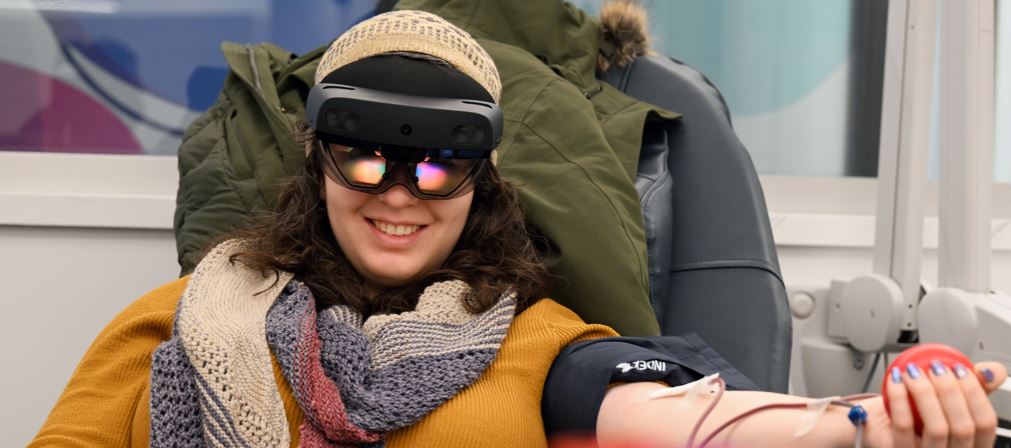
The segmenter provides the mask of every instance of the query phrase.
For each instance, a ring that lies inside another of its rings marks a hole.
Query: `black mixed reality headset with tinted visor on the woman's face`
[[[471,191],[502,132],[501,110],[492,102],[344,84],[315,85],[305,118],[332,180],[374,194],[399,184],[423,199]]]

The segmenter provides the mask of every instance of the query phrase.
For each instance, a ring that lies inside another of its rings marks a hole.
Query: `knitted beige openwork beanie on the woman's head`
[[[421,53],[446,61],[498,102],[501,82],[487,52],[467,31],[425,11],[386,12],[345,31],[319,60],[315,82],[355,61],[391,52]]]

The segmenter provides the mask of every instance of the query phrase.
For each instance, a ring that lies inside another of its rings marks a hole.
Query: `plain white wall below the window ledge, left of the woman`
[[[171,230],[0,226],[0,444],[24,446],[105,324],[178,273]]]

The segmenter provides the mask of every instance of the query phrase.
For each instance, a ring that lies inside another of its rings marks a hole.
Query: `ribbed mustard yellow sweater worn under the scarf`
[[[151,356],[172,336],[181,278],[141,297],[98,335],[29,447],[148,446]],[[513,321],[498,356],[478,380],[417,424],[389,435],[390,447],[544,447],[541,391],[566,345],[617,336],[551,299]],[[274,362],[292,446],[302,413]]]

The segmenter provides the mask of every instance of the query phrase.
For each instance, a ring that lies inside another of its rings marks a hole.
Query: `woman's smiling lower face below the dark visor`
[[[442,266],[453,251],[474,193],[424,200],[395,185],[381,194],[325,179],[327,214],[341,250],[373,287],[401,286]]]

